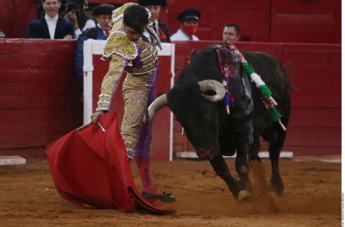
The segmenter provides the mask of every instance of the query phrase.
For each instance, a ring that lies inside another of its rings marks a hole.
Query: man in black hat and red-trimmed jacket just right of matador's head
[[[170,28],[164,21],[158,19],[159,13],[161,12],[161,7],[167,5],[167,0],[138,0],[138,4],[150,10],[150,22],[152,22],[152,27],[158,34],[161,42],[170,42],[170,36],[172,35],[170,32]],[[153,42],[148,31],[145,30],[143,35],[149,39],[150,43]]]

